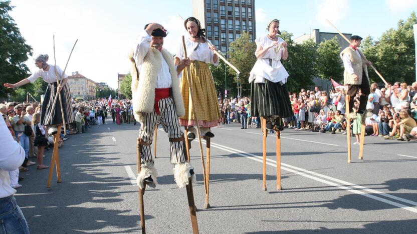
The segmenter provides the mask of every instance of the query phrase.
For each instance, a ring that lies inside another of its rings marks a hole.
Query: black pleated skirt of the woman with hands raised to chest
[[[251,83],[251,115],[266,117],[279,115],[291,117],[293,110],[286,84],[274,83],[265,79],[265,83]]]

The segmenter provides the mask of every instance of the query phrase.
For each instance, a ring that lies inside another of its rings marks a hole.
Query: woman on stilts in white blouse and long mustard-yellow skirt
[[[192,89],[195,98],[195,109],[200,126],[201,136],[214,137],[210,127],[217,126],[221,121],[219,104],[217,99],[216,87],[208,63],[219,64],[219,57],[214,53],[216,46],[209,46],[210,42],[204,38],[205,29],[201,28],[200,22],[194,17],[185,19],[184,26],[187,29],[189,37],[185,39],[185,48],[187,56],[191,61],[189,66],[192,79]],[[182,40],[175,55],[175,65],[185,57]],[[179,118],[179,124],[188,128],[189,139],[195,138],[197,124],[194,116],[194,109],[191,103],[189,93],[189,84],[187,72],[182,71],[180,81],[182,99],[184,101],[185,115]]]

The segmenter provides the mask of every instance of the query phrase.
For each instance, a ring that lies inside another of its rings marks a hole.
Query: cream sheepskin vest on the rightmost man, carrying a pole
[[[355,52],[355,50],[348,46],[340,53],[340,57],[343,60],[343,54],[347,54],[349,56],[349,60],[352,63],[352,68],[355,74],[358,76],[358,80],[355,81],[353,79],[352,74],[349,74],[349,72],[345,69],[343,73],[344,78],[344,84],[361,84],[362,83],[362,77],[363,77],[363,70],[365,70],[365,77],[368,78],[368,66],[366,65],[366,57],[363,55],[361,51],[359,51],[361,56],[358,56],[358,54]],[[369,82],[369,81],[368,81]]]

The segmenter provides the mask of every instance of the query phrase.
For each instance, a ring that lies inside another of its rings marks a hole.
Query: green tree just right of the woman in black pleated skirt
[[[290,91],[297,91],[301,87],[313,85],[312,78],[317,74],[315,63],[317,60],[317,44],[313,40],[295,44],[291,39],[292,33],[283,31],[281,37],[287,42],[288,59],[282,61],[288,74],[287,87]]]

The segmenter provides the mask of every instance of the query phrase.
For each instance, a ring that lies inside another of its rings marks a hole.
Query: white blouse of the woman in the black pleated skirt
[[[262,48],[266,48],[269,47],[274,40],[269,39],[268,36],[265,35],[257,38],[255,42],[257,46],[261,45]],[[278,37],[278,42],[282,43],[285,42],[285,40]],[[281,47],[278,51],[275,51],[278,47],[279,45],[268,49],[261,58],[258,58],[251,70],[249,82],[252,82],[254,79],[255,83],[263,83],[265,82],[264,79],[268,79],[274,83],[282,82],[284,84],[287,82],[289,74],[281,63],[283,48]]]

